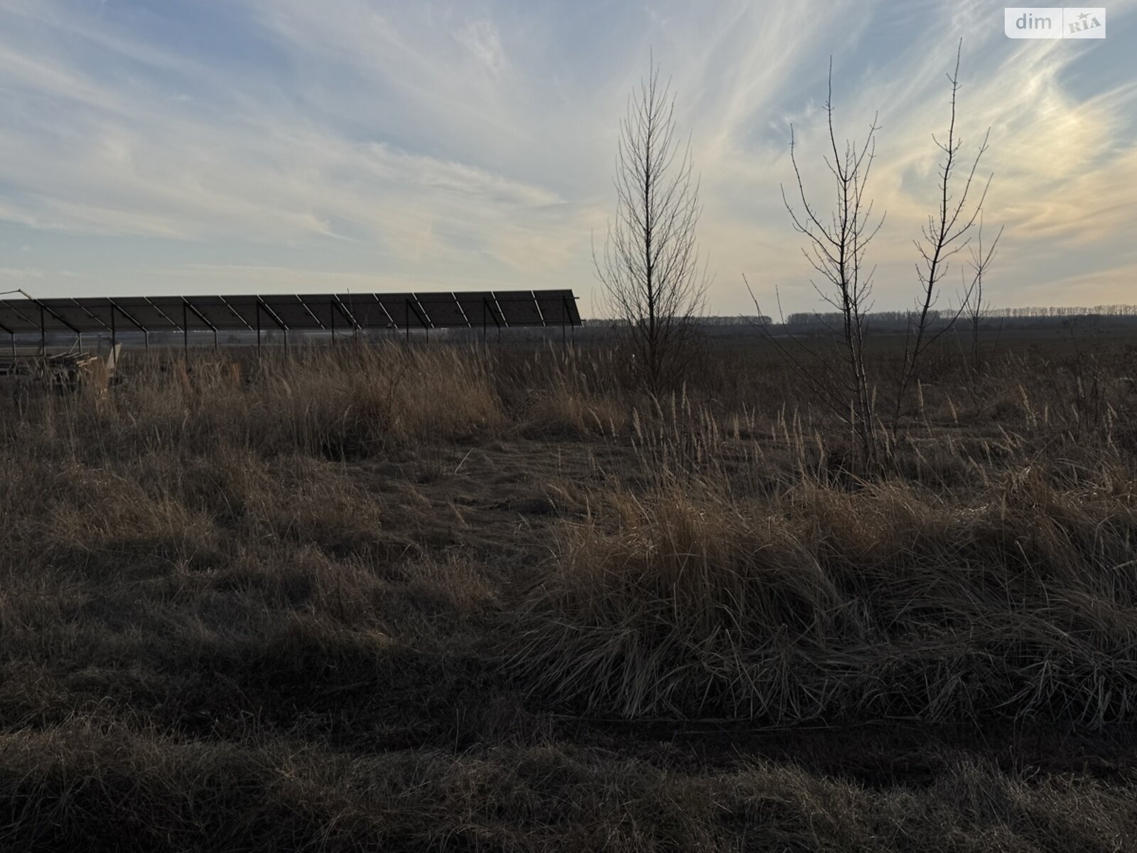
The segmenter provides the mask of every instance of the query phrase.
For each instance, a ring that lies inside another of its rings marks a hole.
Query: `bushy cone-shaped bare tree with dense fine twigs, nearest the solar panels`
[[[613,183],[616,217],[592,263],[609,313],[630,333],[640,379],[656,392],[691,357],[709,282],[695,239],[702,206],[690,141],[675,138],[674,97],[654,60],[628,98]]]

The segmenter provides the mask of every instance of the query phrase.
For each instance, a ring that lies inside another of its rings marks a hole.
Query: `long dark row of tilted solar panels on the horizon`
[[[0,331],[185,332],[580,325],[571,290],[0,299]]]

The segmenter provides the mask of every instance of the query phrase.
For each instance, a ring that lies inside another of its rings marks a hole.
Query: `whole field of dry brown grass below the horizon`
[[[1135,850],[1135,341],[945,340],[874,470],[756,339],[5,397],[0,850]]]

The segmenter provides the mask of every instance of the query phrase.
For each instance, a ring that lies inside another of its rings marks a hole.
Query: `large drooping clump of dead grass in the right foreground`
[[[608,496],[563,533],[512,665],[624,717],[1131,719],[1132,497],[1028,472],[984,498]]]

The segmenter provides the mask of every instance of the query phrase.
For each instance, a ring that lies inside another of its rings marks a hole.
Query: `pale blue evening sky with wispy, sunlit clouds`
[[[814,309],[780,187],[792,126],[832,197],[831,58],[838,135],[878,115],[869,263],[875,307],[902,309],[962,39],[956,130],[970,156],[990,131],[985,233],[1004,229],[989,304],[1137,303],[1137,0],[1104,40],[1011,40],[1003,8],[0,0],[0,290],[567,287],[597,316],[619,124],[654,56],[700,181],[707,312],[754,313],[744,274],[766,313]]]

